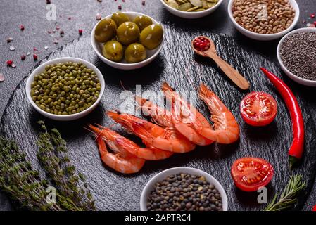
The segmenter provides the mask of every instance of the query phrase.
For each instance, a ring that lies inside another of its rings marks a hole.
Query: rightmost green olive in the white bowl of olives
[[[163,27],[159,24],[146,27],[140,35],[140,42],[146,49],[156,49],[163,41]]]

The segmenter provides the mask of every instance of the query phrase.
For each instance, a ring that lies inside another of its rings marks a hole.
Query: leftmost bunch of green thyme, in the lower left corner
[[[63,210],[46,201],[49,182],[32,169],[14,141],[0,136],[0,188],[30,210]]]

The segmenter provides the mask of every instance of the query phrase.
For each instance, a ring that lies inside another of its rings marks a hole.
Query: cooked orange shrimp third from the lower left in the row
[[[195,145],[182,134],[176,133],[168,127],[159,127],[156,124],[125,113],[109,111],[107,114],[115,122],[122,124],[128,131],[139,136],[144,143],[155,148],[168,150],[172,153],[187,153],[195,148]]]

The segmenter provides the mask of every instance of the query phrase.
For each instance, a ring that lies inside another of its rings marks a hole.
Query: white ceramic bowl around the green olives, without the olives
[[[125,13],[126,15],[128,15],[129,19],[130,20],[134,20],[134,18],[136,18],[138,15],[145,15],[145,14],[142,14],[142,13],[136,13],[136,12],[123,12]],[[111,15],[108,15],[106,16],[105,18],[111,18],[112,14]],[[146,15],[148,16],[149,18],[151,18],[149,15]],[[102,18],[104,19],[104,18]],[[153,18],[151,18],[151,20],[153,20],[153,24],[160,24],[158,23],[156,20],[154,20]],[[101,21],[101,20],[100,20]],[[99,21],[99,23],[100,23]],[[161,49],[163,48],[163,41],[161,41],[160,45],[156,48],[156,49],[153,49],[153,50],[146,50],[147,51],[147,58],[139,63],[127,63],[124,59],[122,60],[122,63],[117,63],[117,62],[113,62],[111,60],[108,60],[107,58],[105,58],[102,54],[102,46],[103,46],[103,43],[99,43],[98,41],[96,41],[96,39],[94,38],[94,31],[96,30],[96,26],[99,24],[99,23],[96,23],[96,25],[94,26],[94,29],[92,30],[91,32],[91,45],[92,45],[92,48],[94,49],[94,51],[96,52],[96,55],[99,56],[99,58],[104,62],[106,63],[107,65],[110,65],[111,67],[113,68],[117,68],[117,69],[120,69],[120,70],[134,70],[134,69],[137,69],[137,68],[142,68],[144,67],[145,65],[148,65],[149,63],[151,63],[155,58],[156,56],[158,56],[158,53],[161,51]],[[161,24],[160,24],[161,25]]]

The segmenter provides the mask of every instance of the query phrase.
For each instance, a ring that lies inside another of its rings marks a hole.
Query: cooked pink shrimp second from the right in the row
[[[198,123],[201,127],[212,129],[208,120],[193,105],[184,101],[166,82],[163,83],[162,89],[167,101],[171,103],[172,122],[175,129],[198,146],[207,146],[213,143],[213,141],[198,134],[193,125]]]

